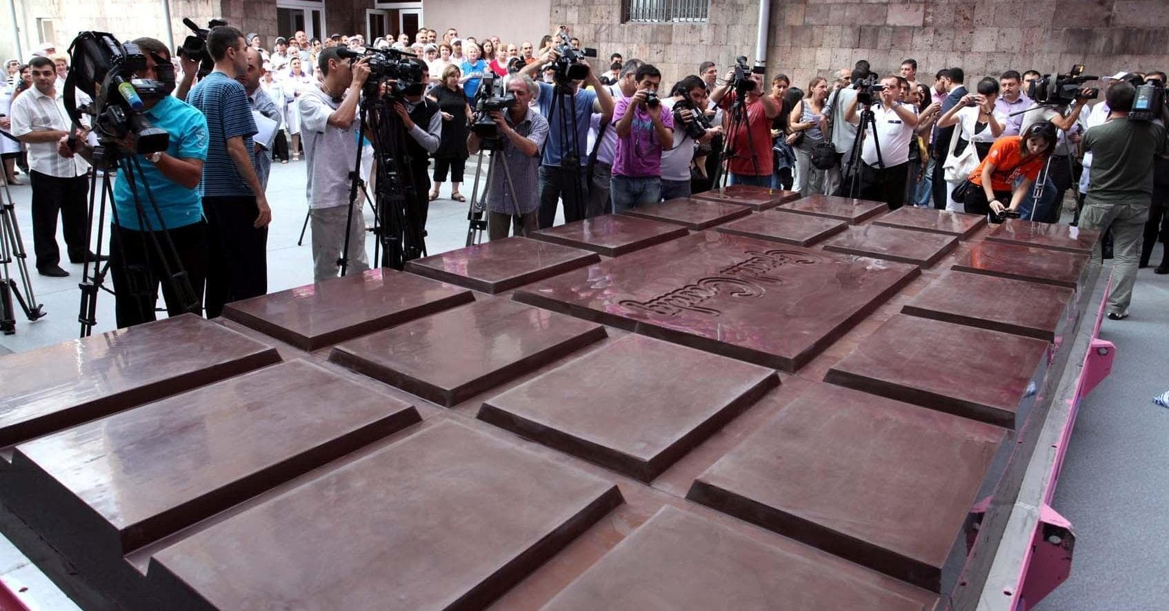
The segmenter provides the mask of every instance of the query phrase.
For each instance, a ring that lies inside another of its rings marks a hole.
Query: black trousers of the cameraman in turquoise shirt
[[[202,313],[203,284],[207,280],[207,223],[178,227],[168,230],[174,252],[166,244],[161,231],[136,231],[117,225],[110,228],[110,276],[113,278],[113,304],[118,328],[126,328],[155,320],[154,305],[158,286],[162,285],[166,313],[177,317],[186,310],[166,275],[161,256],[171,265],[171,272],[187,272],[191,287],[195,292],[195,314]],[[154,241],[161,247],[161,256]],[[174,255],[178,255],[175,259]]]

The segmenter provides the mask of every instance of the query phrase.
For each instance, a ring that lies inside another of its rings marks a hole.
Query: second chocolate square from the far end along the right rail
[[[970,247],[953,269],[1078,289],[1087,263],[1087,254],[982,242]]]

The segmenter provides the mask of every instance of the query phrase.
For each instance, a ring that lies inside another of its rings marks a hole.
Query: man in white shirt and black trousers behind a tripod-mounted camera
[[[918,126],[918,113],[912,104],[897,100],[900,82],[895,76],[881,79],[880,102],[870,106],[873,112],[872,132],[865,132],[860,150],[860,193],[855,197],[883,201],[891,210],[905,203],[905,181],[909,175],[909,143]],[[849,103],[844,119],[859,123],[859,97]],[[880,157],[877,146],[880,146]]]

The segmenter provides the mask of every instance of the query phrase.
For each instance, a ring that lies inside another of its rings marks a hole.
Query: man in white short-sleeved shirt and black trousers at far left
[[[57,141],[69,136],[71,123],[56,88],[53,60],[34,57],[29,68],[33,86],[12,104],[12,134],[28,146],[36,270],[41,276],[63,278],[69,272],[60,265],[58,214],[70,263],[84,263],[87,257],[94,257],[85,242],[89,164],[79,157],[69,159],[57,154]]]

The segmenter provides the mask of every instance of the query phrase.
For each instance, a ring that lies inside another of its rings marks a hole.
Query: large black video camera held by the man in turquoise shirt
[[[69,46],[69,55],[72,61],[65,77],[64,106],[75,125],[81,125],[84,111],[103,147],[117,148],[118,141],[131,136],[134,147],[124,151],[126,153],[166,151],[170,136],[146,120],[141,98],[159,99],[174,90],[171,62],[164,57],[153,58],[159,81],[136,78],[137,71],[146,69],[141,49],[133,43],[123,44],[104,32],[81,33]],[[78,109],[74,88],[91,95],[92,102]]]

